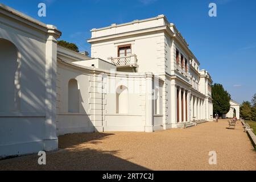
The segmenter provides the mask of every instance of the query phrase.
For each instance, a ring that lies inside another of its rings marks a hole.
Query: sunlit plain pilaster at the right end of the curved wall
[[[152,73],[146,73],[146,108],[145,108],[145,131],[153,132],[153,80]]]

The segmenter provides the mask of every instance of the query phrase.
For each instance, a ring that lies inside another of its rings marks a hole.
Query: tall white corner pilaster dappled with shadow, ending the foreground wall
[[[60,32],[51,25],[47,25],[46,42],[46,121],[44,150],[52,151],[58,148],[56,134],[56,75],[57,75],[57,38]]]

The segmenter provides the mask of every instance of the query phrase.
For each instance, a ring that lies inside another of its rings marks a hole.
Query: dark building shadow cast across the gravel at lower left
[[[86,133],[63,135],[59,137],[60,150],[47,152],[46,165],[39,165],[37,154],[0,161],[2,170],[86,170],[86,171],[148,171],[116,156],[118,151],[103,151],[82,146],[83,143],[96,143],[113,134]],[[80,145],[81,144],[81,145]]]

